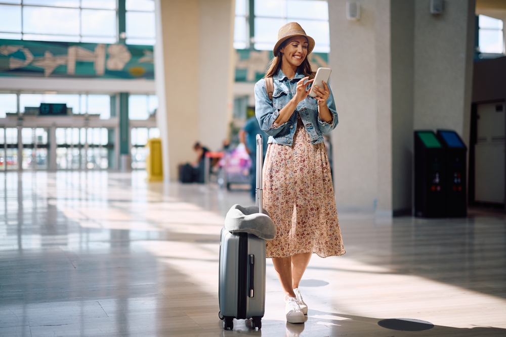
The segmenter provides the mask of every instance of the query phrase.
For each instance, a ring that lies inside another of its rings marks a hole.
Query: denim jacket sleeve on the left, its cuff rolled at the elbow
[[[287,124],[278,125],[274,123],[279,116],[279,110],[272,105],[269,95],[265,90],[265,79],[261,79],[255,84],[255,116],[262,131],[270,136],[275,136]]]

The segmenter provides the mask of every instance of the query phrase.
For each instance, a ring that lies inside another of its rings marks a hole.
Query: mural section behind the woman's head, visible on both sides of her
[[[264,77],[267,65],[273,57],[271,51],[236,50],[235,81],[257,82]],[[311,53],[309,63],[314,71],[319,67],[328,67],[328,54]]]

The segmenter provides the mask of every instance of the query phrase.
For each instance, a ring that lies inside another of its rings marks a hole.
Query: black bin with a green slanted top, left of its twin
[[[414,131],[415,216],[446,216],[445,150],[432,130]]]

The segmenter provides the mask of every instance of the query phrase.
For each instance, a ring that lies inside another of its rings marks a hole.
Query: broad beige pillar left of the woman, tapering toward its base
[[[233,0],[156,0],[155,80],[164,177],[195,159],[200,141],[228,136],[233,85]]]

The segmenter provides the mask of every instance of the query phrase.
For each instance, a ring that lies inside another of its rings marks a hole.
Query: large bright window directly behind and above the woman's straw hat
[[[254,1],[254,38],[249,39],[249,2]],[[234,47],[272,50],[277,31],[288,22],[298,22],[315,39],[314,52],[330,52],[328,4],[322,0],[236,0]]]

